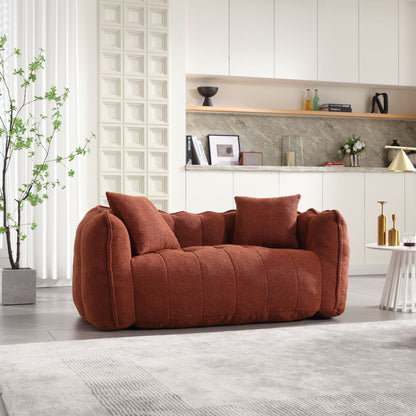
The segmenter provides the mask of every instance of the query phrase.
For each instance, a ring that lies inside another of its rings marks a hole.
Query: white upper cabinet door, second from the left
[[[274,77],[273,14],[273,0],[230,0],[230,75]]]

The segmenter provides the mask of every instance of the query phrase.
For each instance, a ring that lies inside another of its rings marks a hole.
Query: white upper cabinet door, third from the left
[[[276,0],[276,77],[317,79],[317,0]]]

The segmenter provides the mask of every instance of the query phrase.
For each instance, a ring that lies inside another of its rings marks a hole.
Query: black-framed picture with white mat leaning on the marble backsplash
[[[238,165],[240,137],[233,134],[208,134],[211,165]]]

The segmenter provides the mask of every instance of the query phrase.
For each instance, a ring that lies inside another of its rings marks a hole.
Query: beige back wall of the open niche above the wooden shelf
[[[218,107],[274,108],[301,110],[307,88],[319,90],[320,102],[351,104],[357,113],[371,111],[371,98],[376,92],[387,92],[389,113],[415,114],[416,89],[404,87],[380,87],[328,83],[291,81],[268,78],[213,77],[188,75],[186,82],[186,104],[202,105],[203,98],[197,87],[212,85],[219,87],[212,98]]]

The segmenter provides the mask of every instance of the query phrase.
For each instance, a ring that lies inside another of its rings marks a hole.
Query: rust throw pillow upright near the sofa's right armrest
[[[234,244],[298,248],[296,220],[300,195],[280,198],[235,197]]]

